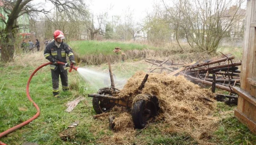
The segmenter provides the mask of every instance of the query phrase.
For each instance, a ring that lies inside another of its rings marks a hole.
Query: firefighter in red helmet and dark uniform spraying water
[[[66,55],[68,55],[71,63],[75,64],[75,57],[72,49],[63,42],[65,39],[63,32],[56,30],[53,34],[54,41],[50,42],[45,50],[44,57],[51,61],[53,64],[50,64],[51,68],[51,78],[53,84],[53,96],[59,96],[59,76],[61,79],[62,90],[68,90],[68,67],[63,65],[57,65],[57,61],[67,63]]]

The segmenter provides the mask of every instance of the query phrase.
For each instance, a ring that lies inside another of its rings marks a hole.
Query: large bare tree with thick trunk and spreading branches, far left
[[[44,3],[37,2],[36,0],[5,0],[3,3],[3,10],[8,15],[8,20],[0,17],[0,21],[5,24],[5,28],[2,31],[1,42],[1,60],[4,62],[12,61],[14,54],[15,34],[19,28],[17,24],[18,17],[23,14],[36,14],[36,13],[50,13],[50,11],[43,9]],[[54,5],[54,8],[59,12],[65,13],[68,18],[72,18],[73,14],[81,10],[84,7],[83,0],[46,0]]]

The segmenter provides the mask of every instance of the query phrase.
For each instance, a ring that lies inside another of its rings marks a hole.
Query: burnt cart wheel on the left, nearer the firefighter
[[[98,94],[100,95],[112,95],[112,90],[110,88],[101,88],[98,90]],[[94,108],[97,114],[101,114],[113,108],[115,106],[115,102],[110,99],[100,99],[100,98],[92,98],[92,107]]]

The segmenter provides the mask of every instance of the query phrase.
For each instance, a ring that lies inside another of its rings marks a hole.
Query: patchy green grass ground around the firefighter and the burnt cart
[[[29,58],[29,60],[27,60]],[[0,67],[0,132],[15,126],[36,113],[36,109],[26,97],[26,83],[33,70],[47,60],[42,52],[29,54],[16,58],[16,61],[8,66]],[[131,77],[137,70],[147,68],[148,64],[141,60],[128,60],[112,65],[113,72],[119,77]],[[82,66],[82,65],[81,65]],[[108,72],[107,65],[88,66],[91,69]],[[118,138],[116,132],[108,128],[108,122],[101,119],[93,119],[95,111],[92,108],[92,99],[89,93],[96,92],[95,88],[84,81],[77,72],[68,74],[69,84],[73,88],[69,92],[61,92],[60,98],[54,98],[51,89],[51,73],[49,67],[39,70],[33,77],[30,85],[30,95],[41,109],[40,116],[21,129],[9,134],[0,140],[9,145],[34,142],[38,144],[198,144],[186,133],[163,133],[154,122],[144,129],[127,132],[127,137]],[[61,86],[61,85],[60,85]],[[61,87],[60,87],[61,88]],[[67,102],[78,96],[86,99],[77,107],[67,113]],[[216,115],[225,115],[219,122],[217,130],[209,136],[207,142],[212,144],[256,144],[256,136],[246,126],[233,117],[233,109],[236,106],[227,106],[217,103]],[[70,123],[79,120],[79,125],[70,132],[70,138],[63,141],[60,134],[67,129]],[[170,126],[165,126],[166,128]]]

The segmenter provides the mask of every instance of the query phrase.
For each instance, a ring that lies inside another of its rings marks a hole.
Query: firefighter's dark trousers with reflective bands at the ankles
[[[68,72],[67,70],[61,72],[60,68],[58,67],[56,70],[51,70],[54,96],[59,94],[59,77],[61,79],[62,90],[68,90]]]

